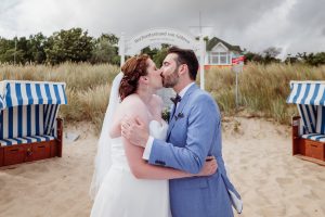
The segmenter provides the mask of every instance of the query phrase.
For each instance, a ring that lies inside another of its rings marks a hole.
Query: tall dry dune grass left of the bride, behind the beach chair
[[[11,80],[48,80],[66,82],[67,105],[60,116],[65,122],[91,122],[96,132],[108,103],[110,82],[119,67],[108,64],[65,63],[50,65],[0,65],[0,78]]]

